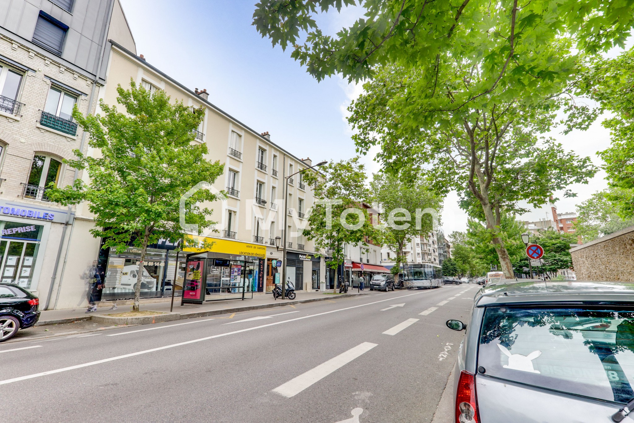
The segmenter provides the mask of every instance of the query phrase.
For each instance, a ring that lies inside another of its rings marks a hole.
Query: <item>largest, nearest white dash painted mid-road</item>
[[[377,344],[372,344],[371,342],[363,342],[363,344],[359,344],[358,346],[349,349],[345,353],[341,353],[335,358],[331,358],[325,363],[320,364],[317,367],[308,370],[306,373],[295,377],[295,379],[291,379],[285,384],[276,387],[275,389],[273,389],[273,392],[285,396],[286,398],[291,398],[292,396],[301,393],[301,391],[304,391],[304,389],[313,385],[314,383],[321,381],[321,379],[331,374],[338,368],[343,367],[350,361],[353,361],[355,358],[367,353],[375,346],[377,346]]]

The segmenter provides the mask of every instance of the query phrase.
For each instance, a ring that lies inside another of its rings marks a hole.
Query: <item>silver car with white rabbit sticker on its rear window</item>
[[[469,324],[447,326],[467,330],[454,372],[456,423],[609,423],[634,409],[631,283],[484,287]]]

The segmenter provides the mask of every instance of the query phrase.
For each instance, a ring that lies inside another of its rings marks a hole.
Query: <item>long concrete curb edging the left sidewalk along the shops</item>
[[[332,296],[332,298],[349,298],[349,297],[365,296],[369,294],[370,292],[368,292],[367,294],[339,294],[336,296]],[[328,300],[331,300],[332,298],[331,297],[309,298],[309,299],[298,299],[293,301],[280,299],[278,303],[259,304],[257,306],[241,306],[241,307],[233,307],[233,308],[223,308],[218,310],[191,311],[190,313],[162,312],[162,313],[165,313],[165,315],[141,316],[141,317],[134,317],[134,318],[110,317],[110,316],[104,316],[104,315],[90,315],[90,316],[72,317],[72,318],[65,318],[65,319],[56,319],[56,320],[41,320],[36,323],[36,326],[58,325],[60,323],[85,322],[86,320],[94,320],[95,322],[108,323],[111,325],[147,325],[150,323],[171,322],[172,320],[183,320],[183,319],[190,319],[190,318],[196,318],[196,317],[223,315],[225,313],[238,313],[239,311],[283,307],[283,306],[301,304],[301,303],[314,303],[315,301],[328,301]],[[159,316],[162,316],[161,319],[165,318],[165,316],[170,316],[170,318],[168,320],[159,320]],[[139,321],[137,321],[136,319],[139,319]],[[134,320],[134,323],[131,323],[131,320]],[[128,322],[128,323],[125,323],[125,322]]]

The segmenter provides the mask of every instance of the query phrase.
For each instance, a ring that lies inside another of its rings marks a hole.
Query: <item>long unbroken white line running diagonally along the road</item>
[[[349,310],[349,309],[358,308],[358,307],[372,306],[372,304],[384,303],[385,301],[394,301],[395,299],[398,299],[398,298],[410,297],[410,296],[415,296],[415,295],[424,294],[424,293],[425,293],[424,291],[423,292],[415,292],[414,294],[407,294],[407,295],[400,296],[400,297],[391,297],[391,298],[382,299],[382,300],[379,300],[379,301],[373,301],[372,303],[359,304],[358,306],[350,306],[350,307],[346,307],[346,308],[339,308],[339,309],[336,309],[336,310],[323,311],[322,313],[317,313],[315,315],[296,317],[294,319],[282,320],[281,322],[267,323],[266,325],[248,327],[246,329],[234,330],[233,332],[226,332],[224,334],[205,336],[204,338],[192,339],[191,341],[178,342],[178,344],[165,345],[165,346],[162,346],[162,347],[159,347],[159,348],[145,349],[143,351],[137,351],[136,353],[130,353],[130,354],[119,355],[119,356],[110,357],[110,358],[104,358],[103,360],[90,361],[89,363],[82,363],[82,364],[78,364],[78,365],[74,365],[74,366],[70,366],[70,367],[56,368],[55,370],[48,370],[47,372],[34,373],[34,374],[31,374],[31,375],[14,377],[13,379],[6,379],[4,381],[0,381],[0,385],[6,385],[6,384],[13,383],[13,382],[19,382],[19,381],[26,381],[27,379],[33,379],[34,377],[41,377],[41,376],[56,374],[56,373],[60,373],[60,372],[67,372],[68,370],[75,370],[76,368],[94,366],[94,365],[98,365],[98,364],[101,364],[101,363],[107,363],[108,361],[122,360],[123,358],[128,358],[128,357],[134,357],[134,356],[137,356],[137,355],[153,353],[154,351],[160,351],[162,349],[169,349],[169,348],[179,347],[181,345],[194,344],[195,342],[207,341],[208,339],[215,339],[215,338],[219,338],[219,337],[223,337],[223,336],[227,336],[227,335],[240,334],[242,332],[249,332],[249,330],[262,329],[264,327],[281,325],[282,323],[295,322],[297,320],[303,320],[303,319],[307,319],[307,318],[311,318],[311,317],[328,315],[330,313],[337,313],[337,311],[344,311],[344,310]],[[130,333],[130,332],[125,332],[125,333],[127,334],[127,333]]]

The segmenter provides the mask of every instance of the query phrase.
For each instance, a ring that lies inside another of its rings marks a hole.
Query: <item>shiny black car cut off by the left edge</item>
[[[37,323],[39,299],[18,285],[0,285],[0,342]]]

